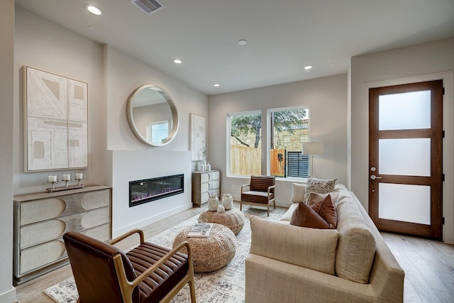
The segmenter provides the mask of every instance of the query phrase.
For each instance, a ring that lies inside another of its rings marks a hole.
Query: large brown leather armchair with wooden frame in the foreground
[[[124,253],[112,244],[134,233],[140,245]],[[69,231],[63,236],[78,302],[170,302],[189,283],[191,302],[196,302],[192,250],[182,242],[172,250],[144,241],[143,231],[135,229],[110,243]],[[180,253],[183,247],[187,254]]]

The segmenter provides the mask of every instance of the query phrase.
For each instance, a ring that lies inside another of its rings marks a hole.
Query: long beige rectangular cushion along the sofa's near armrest
[[[250,253],[311,270],[335,274],[338,231],[250,218]]]

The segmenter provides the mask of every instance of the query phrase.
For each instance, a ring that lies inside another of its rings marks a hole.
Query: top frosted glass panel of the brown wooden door
[[[379,130],[431,128],[431,91],[379,97]]]

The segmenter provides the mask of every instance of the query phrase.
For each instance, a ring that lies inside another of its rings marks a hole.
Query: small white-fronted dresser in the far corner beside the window
[[[219,195],[221,173],[218,170],[209,172],[192,172],[192,204],[201,206],[208,202],[210,194]]]

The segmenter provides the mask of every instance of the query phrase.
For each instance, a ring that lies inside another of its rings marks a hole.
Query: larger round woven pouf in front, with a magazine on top
[[[223,268],[232,260],[236,252],[236,236],[230,228],[213,224],[207,238],[187,237],[191,228],[192,226],[184,228],[178,234],[173,247],[183,241],[191,244],[194,272],[212,272]]]

